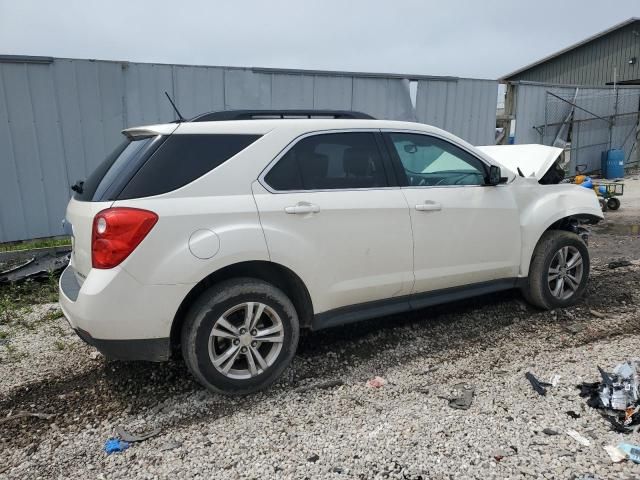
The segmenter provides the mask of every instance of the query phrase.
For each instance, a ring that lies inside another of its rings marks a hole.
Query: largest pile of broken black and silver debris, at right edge
[[[598,367],[601,382],[579,385],[587,405],[601,410],[614,430],[627,433],[640,429],[640,360],[617,365],[611,373]]]

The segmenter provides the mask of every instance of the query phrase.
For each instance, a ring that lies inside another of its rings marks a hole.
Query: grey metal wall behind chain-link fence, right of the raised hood
[[[527,82],[514,83],[511,88],[516,99],[513,112],[516,144],[553,144],[560,129],[553,124],[563,122],[571,106],[549,95],[550,92],[581,107],[574,111],[570,173],[575,173],[576,165],[585,165],[586,171],[599,170],[601,152],[609,148],[622,148],[626,161],[635,161],[640,88],[618,87],[616,91],[613,87],[583,88]],[[635,114],[617,117],[611,130],[607,122],[592,115],[609,118],[615,112]]]

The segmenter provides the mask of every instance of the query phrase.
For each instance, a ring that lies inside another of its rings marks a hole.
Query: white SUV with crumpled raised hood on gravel
[[[602,213],[592,191],[544,185],[559,149],[329,111],[123,133],[73,187],[60,278],[71,326],[108,357],[181,349],[206,387],[248,393],[287,367],[300,329],[510,288],[556,308],[585,289],[581,225]]]

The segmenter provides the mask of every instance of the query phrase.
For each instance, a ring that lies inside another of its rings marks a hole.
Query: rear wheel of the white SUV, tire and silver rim
[[[249,309],[253,326],[246,323]],[[298,314],[281,290],[238,278],[208,288],[191,306],[182,326],[182,355],[209,390],[242,395],[278,379],[291,363],[299,336]]]

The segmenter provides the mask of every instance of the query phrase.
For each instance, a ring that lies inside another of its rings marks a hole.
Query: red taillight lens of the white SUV
[[[158,221],[158,215],[138,208],[108,208],[93,219],[93,268],[113,268],[140,245]]]

